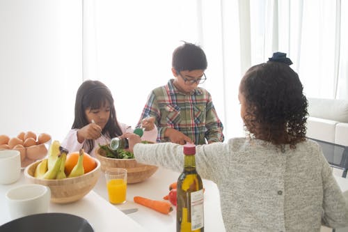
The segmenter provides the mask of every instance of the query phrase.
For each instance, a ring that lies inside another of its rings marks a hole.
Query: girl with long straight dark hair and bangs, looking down
[[[61,144],[70,152],[84,148],[86,153],[94,156],[98,144],[109,144],[111,138],[133,132],[132,127],[117,121],[111,91],[99,81],[87,80],[81,84],[77,90],[74,115],[72,130]],[[156,141],[154,119],[143,120],[143,140]]]

